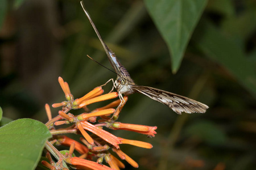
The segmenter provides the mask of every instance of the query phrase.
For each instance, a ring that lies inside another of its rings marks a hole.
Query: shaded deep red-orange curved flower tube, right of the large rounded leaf
[[[63,146],[71,146],[72,143],[75,143],[75,150],[79,152],[80,154],[87,154],[88,153],[88,148],[81,143],[66,137],[66,136],[61,136],[60,138],[57,139],[58,142],[60,142],[61,145]]]

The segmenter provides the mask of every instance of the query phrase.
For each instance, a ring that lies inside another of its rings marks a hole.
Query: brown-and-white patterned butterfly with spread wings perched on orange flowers
[[[133,79],[131,79],[128,71],[118,61],[117,57],[112,52],[112,50],[109,49],[109,47],[102,40],[101,35],[98,32],[98,29],[96,28],[92,19],[90,18],[88,11],[86,11],[86,9],[85,9],[84,3],[82,1],[80,3],[81,3],[81,6],[82,6],[87,18],[90,21],[90,24],[92,24],[92,27],[97,34],[98,39],[100,39],[101,44],[102,44],[103,48],[105,49],[105,52],[108,56],[110,64],[112,65],[113,69],[115,70],[115,73],[117,73],[117,79],[115,81],[113,79],[110,79],[110,80],[113,81],[113,86],[117,90],[119,99],[121,99],[121,101],[123,101],[123,103],[124,103],[124,100],[123,100],[122,94],[123,95],[131,95],[131,94],[134,94],[135,92],[139,92],[143,95],[150,97],[153,100],[159,101],[160,103],[167,105],[169,108],[171,108],[177,114],[181,114],[181,112],[185,112],[185,113],[205,113],[206,112],[206,110],[209,108],[207,105],[200,103],[198,101],[189,99],[188,97],[176,95],[176,94],[173,94],[168,91],[159,90],[157,88],[152,88],[152,87],[147,87],[147,86],[139,86],[139,85],[135,84]]]

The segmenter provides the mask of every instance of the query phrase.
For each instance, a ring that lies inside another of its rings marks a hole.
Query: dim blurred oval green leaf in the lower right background
[[[198,121],[185,129],[185,134],[194,136],[210,145],[221,145],[227,141],[226,135],[210,121]]]

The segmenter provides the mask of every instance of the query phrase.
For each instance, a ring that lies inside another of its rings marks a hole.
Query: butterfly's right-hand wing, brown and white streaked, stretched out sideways
[[[176,95],[168,91],[159,90],[157,88],[138,85],[130,85],[129,87],[143,95],[150,97],[153,100],[167,105],[177,114],[181,114],[181,112],[205,113],[209,108],[207,105],[189,99],[188,97]]]

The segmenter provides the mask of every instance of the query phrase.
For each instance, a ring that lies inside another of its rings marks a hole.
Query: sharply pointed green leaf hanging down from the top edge
[[[176,73],[207,0],[144,0],[144,3],[168,45],[172,71]]]

